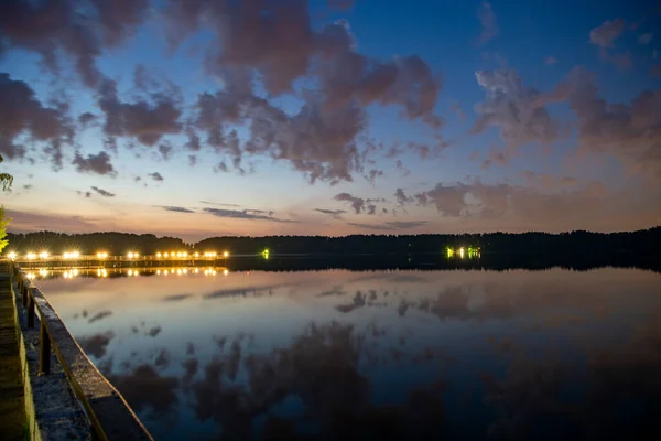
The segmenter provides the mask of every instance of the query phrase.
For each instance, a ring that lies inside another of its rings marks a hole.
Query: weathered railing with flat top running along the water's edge
[[[35,316],[40,318],[40,374],[50,374],[53,348],[99,440],[152,440],[121,394],[94,366],[51,303],[15,262],[11,276],[12,287],[15,281],[26,309],[28,327],[34,327]]]

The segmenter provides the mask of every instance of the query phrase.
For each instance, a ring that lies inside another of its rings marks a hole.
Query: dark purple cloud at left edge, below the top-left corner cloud
[[[6,10],[3,7],[2,17],[7,17]],[[0,154],[8,160],[23,158],[25,146],[18,142],[24,137],[30,143],[43,143],[43,151],[53,168],[62,169],[62,146],[72,144],[75,135],[67,110],[64,103],[56,104],[56,107],[44,107],[28,84],[0,73]]]

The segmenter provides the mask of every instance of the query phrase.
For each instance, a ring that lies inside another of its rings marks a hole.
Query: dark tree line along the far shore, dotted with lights
[[[425,234],[425,235],[353,235],[326,236],[264,236],[264,237],[213,237],[195,244],[186,244],[176,237],[156,237],[153,234],[89,233],[64,234],[37,232],[9,233],[9,246],[4,252],[63,254],[77,250],[83,255],[106,251],[113,256],[129,251],[154,255],[164,251],[224,252],[232,255],[259,255],[268,249],[275,255],[402,255],[437,254],[446,248],[479,248],[480,252],[545,252],[596,255],[605,252],[657,251],[661,244],[661,227],[622,233],[571,232],[550,234],[485,233],[485,234]]]

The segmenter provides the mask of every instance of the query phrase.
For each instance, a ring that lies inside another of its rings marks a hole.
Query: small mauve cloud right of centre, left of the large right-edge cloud
[[[542,94],[523,86],[511,69],[478,71],[477,83],[486,90],[486,99],[475,106],[479,115],[473,132],[480,133],[489,126],[499,129],[508,155],[521,146],[548,146],[559,136],[559,126],[551,119]]]

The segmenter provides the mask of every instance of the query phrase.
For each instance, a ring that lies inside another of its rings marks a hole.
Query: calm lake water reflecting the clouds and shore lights
[[[661,439],[658,272],[35,275],[158,440]]]

